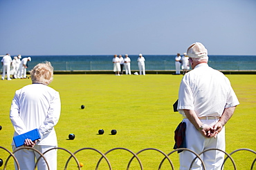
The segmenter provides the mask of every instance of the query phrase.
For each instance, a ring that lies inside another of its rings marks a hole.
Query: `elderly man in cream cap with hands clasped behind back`
[[[239,105],[230,81],[221,72],[208,66],[208,50],[201,43],[188,47],[192,71],[185,74],[179,89],[179,113],[186,124],[185,144],[201,153],[205,149],[225,151],[225,127]],[[206,169],[221,169],[224,153],[206,151],[201,155]],[[195,158],[190,151],[180,153],[180,169],[189,169]],[[202,169],[197,158],[192,169]]]

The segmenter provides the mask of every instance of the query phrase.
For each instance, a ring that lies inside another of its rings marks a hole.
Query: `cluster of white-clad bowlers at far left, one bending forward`
[[[28,67],[27,63],[31,61],[30,56],[21,59],[21,55],[14,56],[13,59],[10,54],[6,54],[1,59],[2,63],[2,77],[1,79],[4,80],[5,78],[10,81],[11,75],[12,78],[26,78],[26,69]]]

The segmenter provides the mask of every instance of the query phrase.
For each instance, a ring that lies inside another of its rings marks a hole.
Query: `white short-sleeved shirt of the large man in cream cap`
[[[198,117],[221,116],[223,110],[239,105],[230,81],[206,63],[194,67],[183,76],[179,89],[178,110],[191,109]]]

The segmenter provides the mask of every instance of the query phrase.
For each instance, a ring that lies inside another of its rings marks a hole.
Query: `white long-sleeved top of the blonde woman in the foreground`
[[[60,118],[60,109],[59,92],[47,85],[32,84],[18,89],[10,108],[14,136],[37,128],[41,136],[38,145],[57,146],[54,126]]]

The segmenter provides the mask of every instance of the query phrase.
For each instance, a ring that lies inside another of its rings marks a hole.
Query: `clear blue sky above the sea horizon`
[[[0,54],[256,55],[255,0],[0,0]]]

